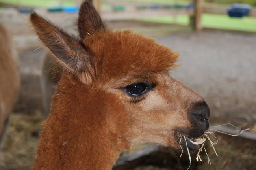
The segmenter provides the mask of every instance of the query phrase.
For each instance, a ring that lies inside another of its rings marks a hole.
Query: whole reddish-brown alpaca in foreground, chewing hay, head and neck
[[[39,39],[63,67],[33,170],[110,170],[123,149],[155,143],[190,150],[208,129],[204,99],[169,75],[178,54],[130,30],[106,28],[84,2],[79,37],[36,13]]]

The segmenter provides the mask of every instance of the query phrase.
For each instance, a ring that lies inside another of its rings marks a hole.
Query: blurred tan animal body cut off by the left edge
[[[0,144],[20,89],[19,59],[12,36],[0,23]]]

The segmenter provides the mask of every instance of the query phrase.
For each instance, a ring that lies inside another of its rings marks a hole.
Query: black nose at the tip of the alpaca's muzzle
[[[208,129],[210,109],[206,102],[195,104],[190,111],[190,116],[196,123],[202,123],[202,125],[205,125],[206,129]]]

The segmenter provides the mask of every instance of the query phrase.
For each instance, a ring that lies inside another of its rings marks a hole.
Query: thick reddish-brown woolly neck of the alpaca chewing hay
[[[61,79],[33,168],[109,170],[129,147],[126,111],[115,96],[72,82]]]

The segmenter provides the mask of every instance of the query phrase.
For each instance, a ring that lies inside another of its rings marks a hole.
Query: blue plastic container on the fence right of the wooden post
[[[252,7],[248,4],[232,4],[228,9],[230,17],[244,17],[248,14]]]

